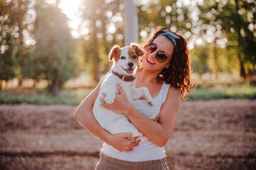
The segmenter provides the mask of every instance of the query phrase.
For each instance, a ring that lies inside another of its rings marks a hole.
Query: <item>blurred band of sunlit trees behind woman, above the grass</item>
[[[98,82],[111,66],[111,46],[124,45],[124,1],[81,1],[77,40],[70,36],[68,18],[58,8],[60,1],[0,2],[0,84],[12,78],[45,79],[54,91],[80,71]],[[188,39],[192,66],[199,75],[214,73],[218,79],[220,73],[240,72],[252,77],[256,73],[256,3],[189,2],[137,1],[140,43],[157,27],[170,27]]]

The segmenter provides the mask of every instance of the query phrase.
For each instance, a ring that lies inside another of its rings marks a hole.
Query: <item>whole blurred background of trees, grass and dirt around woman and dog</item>
[[[72,113],[131,33],[125,1],[0,1],[2,169],[93,169],[102,143]],[[256,1],[134,2],[137,43],[169,27],[188,39],[195,72],[168,165],[255,169]]]

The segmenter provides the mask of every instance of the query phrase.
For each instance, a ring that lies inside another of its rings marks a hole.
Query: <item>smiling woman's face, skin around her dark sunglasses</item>
[[[164,67],[169,67],[170,65],[174,45],[164,35],[157,36],[153,43],[156,45],[156,50],[151,53],[147,50],[145,51],[145,54],[142,57],[142,68],[150,72],[161,73]],[[157,52],[161,53],[162,55],[164,53],[168,59],[166,59],[164,62],[158,62],[156,59]]]

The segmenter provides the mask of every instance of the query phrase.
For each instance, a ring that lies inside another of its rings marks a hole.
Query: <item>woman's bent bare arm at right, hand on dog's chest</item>
[[[128,102],[120,86],[118,86],[118,90],[120,96],[116,96],[115,102],[113,104],[106,104],[101,100],[102,106],[116,113],[125,113],[132,124],[147,136],[148,139],[160,147],[164,146],[170,138],[177,122],[181,100],[180,90],[170,87],[166,101],[161,107],[158,122],[142,115]]]

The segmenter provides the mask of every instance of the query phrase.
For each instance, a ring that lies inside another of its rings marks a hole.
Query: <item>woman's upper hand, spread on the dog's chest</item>
[[[131,103],[129,103],[124,90],[122,89],[122,87],[120,87],[120,85],[118,83],[116,83],[116,87],[117,87],[120,95],[116,95],[114,103],[107,104],[104,101],[104,97],[106,97],[106,94],[103,93],[102,97],[100,98],[100,102],[101,102],[100,106],[102,106],[102,108],[105,108],[107,110],[111,110],[115,113],[122,113],[122,114],[126,115],[127,111],[131,110],[131,108],[133,106]]]

